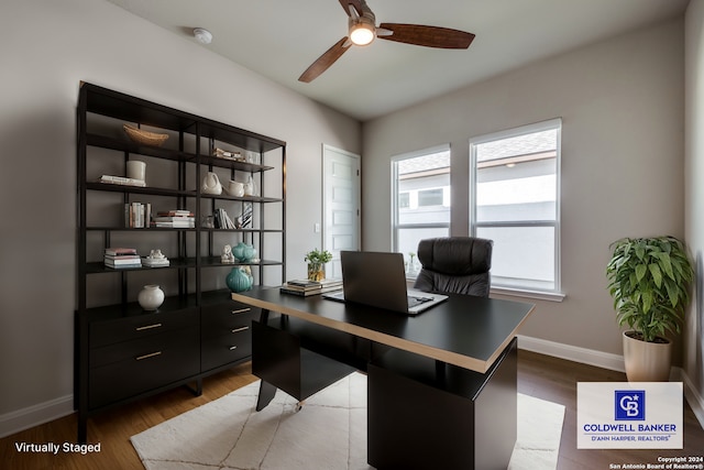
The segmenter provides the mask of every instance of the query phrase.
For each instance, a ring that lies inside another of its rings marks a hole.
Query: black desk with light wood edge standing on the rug
[[[278,288],[232,298],[262,308],[252,328],[257,408],[276,387],[305,400],[361,369],[370,464],[506,468],[516,440],[515,337],[532,304],[450,295],[409,317]]]

